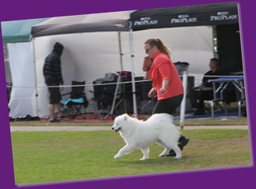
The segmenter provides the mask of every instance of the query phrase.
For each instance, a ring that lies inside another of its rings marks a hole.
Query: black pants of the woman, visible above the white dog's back
[[[152,111],[154,113],[175,113],[175,109],[179,107],[179,105],[183,102],[183,95],[178,95],[175,97],[158,100],[156,102],[156,106]]]

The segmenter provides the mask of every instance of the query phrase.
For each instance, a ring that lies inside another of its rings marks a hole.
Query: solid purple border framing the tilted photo
[[[0,6],[0,21],[7,20],[23,20],[32,18],[43,17],[60,17],[77,14],[87,13],[104,13],[122,10],[134,10],[134,9],[152,9],[168,6],[190,6],[199,5],[214,2],[230,2],[220,0],[184,0],[184,1],[153,1],[153,0],[130,0],[129,2],[114,1],[114,0],[100,0],[85,2],[81,0],[73,0],[71,2],[63,1],[50,1],[44,0],[42,2],[35,1],[6,1],[2,2]],[[254,44],[255,42],[255,27],[254,23],[254,2],[249,0],[239,0],[240,10],[240,30],[243,46],[243,62],[244,72],[246,74],[246,86],[247,86],[247,109],[248,120],[250,124],[250,141],[252,143],[252,158],[255,156],[256,146],[256,128],[255,118],[253,113],[256,111],[255,99],[256,96],[254,90]],[[1,34],[2,35],[2,34]],[[2,38],[0,38],[2,43]],[[14,182],[13,173],[13,157],[12,147],[9,129],[9,117],[7,109],[7,95],[6,95],[6,76],[5,66],[3,61],[2,46],[0,53],[0,91],[1,98],[0,104],[2,105],[1,112],[1,126],[0,126],[0,186],[1,188],[32,188],[32,189],[66,189],[66,188],[111,188],[111,189],[130,189],[130,188],[158,188],[158,187],[178,187],[178,188],[251,188],[255,186],[254,176],[256,170],[254,166],[233,168],[233,169],[219,169],[219,170],[205,170],[195,172],[181,172],[171,173],[163,175],[151,175],[151,176],[130,176],[119,179],[107,179],[107,180],[85,180],[85,181],[73,181],[63,183],[44,183],[37,185],[16,186]],[[250,103],[249,103],[250,102]],[[254,159],[253,159],[254,164]]]

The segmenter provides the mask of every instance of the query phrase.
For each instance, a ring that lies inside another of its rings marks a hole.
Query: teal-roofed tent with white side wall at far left
[[[6,77],[9,84],[12,83],[14,86],[12,89],[9,88],[11,117],[33,115],[31,97],[35,86],[35,72],[30,33],[32,25],[44,20],[47,18],[1,23],[2,39],[6,46]]]

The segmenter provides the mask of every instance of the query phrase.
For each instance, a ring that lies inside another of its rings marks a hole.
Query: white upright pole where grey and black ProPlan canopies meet
[[[134,80],[134,35],[131,27],[129,29],[129,42],[130,42],[130,63],[132,67],[132,89],[133,89],[133,100],[134,100],[134,117],[137,118],[137,102],[136,102],[136,88],[135,88],[135,80]]]

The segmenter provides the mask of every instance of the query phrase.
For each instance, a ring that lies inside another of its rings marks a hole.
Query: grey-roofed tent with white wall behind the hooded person
[[[106,72],[123,71],[122,57],[129,57],[130,52],[122,52],[121,35],[128,36],[129,17],[128,11],[56,17],[32,27],[37,85],[34,109],[37,115],[48,115],[47,88],[41,73],[44,58],[52,50],[53,44],[58,41],[65,46],[62,54],[62,75],[65,84],[70,85],[72,80],[85,80],[86,93],[89,94],[88,91],[93,91],[93,80],[104,77]],[[121,31],[126,32],[121,34]],[[126,44],[129,44],[128,42]],[[133,69],[129,70],[134,73]],[[132,81],[135,92],[134,74]],[[66,90],[70,90],[69,87],[66,87]],[[135,93],[133,98],[135,113]]]

